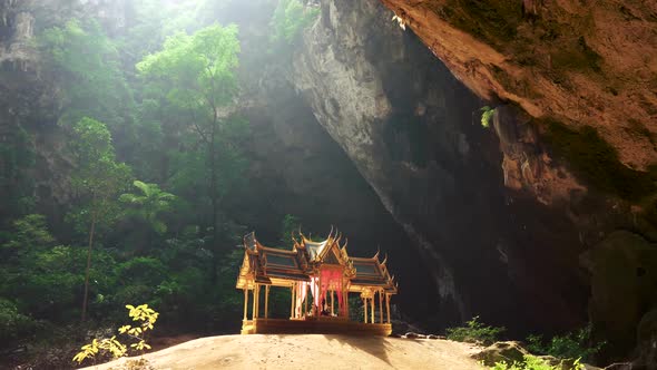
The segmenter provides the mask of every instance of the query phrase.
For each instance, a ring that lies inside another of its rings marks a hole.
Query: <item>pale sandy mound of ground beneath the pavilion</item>
[[[146,354],[155,369],[482,369],[480,348],[432,339],[345,335],[220,335]],[[88,369],[129,369],[120,359]]]

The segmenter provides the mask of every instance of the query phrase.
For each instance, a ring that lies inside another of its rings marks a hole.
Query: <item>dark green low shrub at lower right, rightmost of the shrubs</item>
[[[590,361],[605,345],[604,342],[591,345],[590,325],[577,332],[555,335],[547,343],[543,343],[540,335],[530,335],[527,338],[527,349],[533,353],[549,354],[560,359],[584,359],[585,361]]]

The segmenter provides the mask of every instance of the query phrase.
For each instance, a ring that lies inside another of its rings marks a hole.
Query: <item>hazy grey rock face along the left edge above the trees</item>
[[[68,165],[56,154],[61,143],[50,135],[47,124],[56,120],[56,90],[41,78],[39,55],[31,43],[36,32],[32,6],[29,1],[0,2],[0,169],[4,174],[0,186],[7,195],[0,201],[0,218],[8,216],[4,210],[17,206],[11,202],[37,197],[52,204],[52,198],[65,202],[68,193],[61,178],[66,176],[60,176]]]

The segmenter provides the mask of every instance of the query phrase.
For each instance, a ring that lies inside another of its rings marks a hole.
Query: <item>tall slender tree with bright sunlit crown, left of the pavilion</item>
[[[214,25],[192,36],[176,33],[166,40],[161,51],[137,64],[150,90],[163,91],[170,105],[185,113],[196,142],[205,149],[206,188],[212,204],[212,280],[217,276],[220,254],[220,203],[241,163],[235,139],[244,121],[228,109],[237,94],[238,53],[237,27]]]

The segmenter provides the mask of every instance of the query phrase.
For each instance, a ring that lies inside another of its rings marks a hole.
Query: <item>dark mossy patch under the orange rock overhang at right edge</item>
[[[592,188],[628,201],[638,201],[656,191],[656,171],[645,173],[625,166],[616,149],[595,128],[575,130],[551,119],[546,124],[546,139],[557,157]]]

